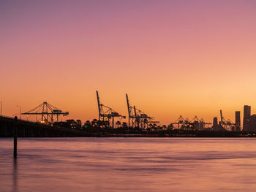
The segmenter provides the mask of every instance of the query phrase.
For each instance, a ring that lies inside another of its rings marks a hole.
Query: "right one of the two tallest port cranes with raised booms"
[[[128,108],[128,126],[132,124],[132,128],[137,126],[138,128],[147,128],[148,123],[159,123],[159,121],[154,121],[154,118],[149,117],[146,113],[137,109],[135,106],[130,106],[128,95],[127,96],[127,108]]]

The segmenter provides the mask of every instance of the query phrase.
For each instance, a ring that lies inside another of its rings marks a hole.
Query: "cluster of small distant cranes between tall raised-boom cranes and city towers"
[[[184,119],[182,116],[180,116],[174,123],[171,123],[171,125],[174,127],[176,125],[177,129],[181,130],[204,130],[205,128],[208,128],[211,123],[206,123],[203,118],[192,118],[192,120],[189,120],[189,118]]]

